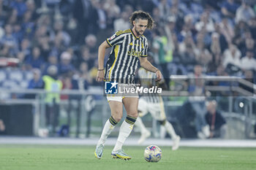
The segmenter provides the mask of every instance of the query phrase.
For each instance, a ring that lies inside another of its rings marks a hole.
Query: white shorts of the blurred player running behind
[[[139,116],[143,117],[148,114],[148,112],[154,117],[156,120],[165,120],[165,107],[163,101],[161,100],[159,103],[151,103],[147,102],[145,99],[140,98],[138,105]]]

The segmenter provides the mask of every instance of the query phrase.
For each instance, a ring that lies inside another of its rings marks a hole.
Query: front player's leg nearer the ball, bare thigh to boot
[[[123,99],[123,104],[127,110],[127,117],[121,124],[118,139],[116,145],[111,153],[113,158],[121,158],[124,160],[129,160],[131,157],[122,151],[122,146],[132,132],[133,125],[138,117],[138,98],[137,97],[127,97]]]

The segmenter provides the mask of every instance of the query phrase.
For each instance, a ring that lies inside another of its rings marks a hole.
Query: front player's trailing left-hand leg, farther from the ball
[[[111,117],[106,121],[102,130],[102,135],[100,136],[99,142],[97,143],[97,147],[94,152],[96,158],[102,157],[104,144],[108,138],[108,135],[113,131],[113,128],[115,128],[116,124],[121,120],[121,117],[123,116],[123,104],[121,101],[109,101],[109,105],[111,109]]]

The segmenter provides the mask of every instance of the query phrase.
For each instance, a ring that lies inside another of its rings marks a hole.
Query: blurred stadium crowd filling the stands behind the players
[[[138,9],[156,21],[145,36],[164,77],[200,65],[204,74],[252,78],[253,0],[0,0],[0,56],[18,58],[18,70],[42,75],[56,66],[66,87],[74,75],[97,85],[97,47],[130,28],[129,16]]]

